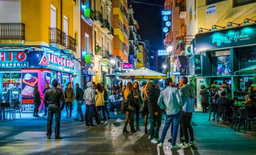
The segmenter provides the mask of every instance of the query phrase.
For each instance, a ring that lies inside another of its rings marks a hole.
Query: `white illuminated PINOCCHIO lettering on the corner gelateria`
[[[72,61],[70,59],[63,58],[63,57],[60,57],[60,56],[56,56],[56,55],[51,54],[51,53],[48,54],[48,58],[49,58],[49,63],[74,68],[74,61]]]

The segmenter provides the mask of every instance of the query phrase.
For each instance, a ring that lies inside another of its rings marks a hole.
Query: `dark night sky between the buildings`
[[[138,2],[144,2],[149,4],[157,4],[164,6],[165,0],[134,0]],[[141,3],[134,3],[131,0],[128,0],[128,6],[132,5],[134,11],[134,18],[139,24],[138,33],[142,40],[150,40],[151,49],[161,49],[162,40],[161,40],[161,11],[164,10],[164,7],[147,5]]]

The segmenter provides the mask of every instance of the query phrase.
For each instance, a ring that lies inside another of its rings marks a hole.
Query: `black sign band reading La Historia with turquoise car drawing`
[[[196,35],[197,51],[256,45],[256,24]]]

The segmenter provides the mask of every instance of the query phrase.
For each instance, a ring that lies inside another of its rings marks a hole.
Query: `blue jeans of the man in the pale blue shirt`
[[[164,126],[164,129],[162,131],[161,140],[160,140],[161,143],[164,143],[166,132],[169,129],[169,127],[171,125],[171,122],[173,123],[173,126],[174,126],[173,131],[171,133],[171,135],[172,135],[171,144],[172,144],[172,146],[174,146],[174,145],[176,145],[176,139],[177,139],[177,134],[178,134],[178,126],[180,125],[180,122],[181,122],[181,111],[179,111],[175,115],[167,115],[166,114],[165,126]]]

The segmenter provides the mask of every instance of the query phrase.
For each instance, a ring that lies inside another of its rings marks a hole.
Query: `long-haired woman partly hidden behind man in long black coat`
[[[149,114],[149,110],[148,110],[148,88],[149,86],[152,85],[152,82],[148,82],[144,88],[144,104],[143,104],[143,111],[144,111],[144,126],[145,126],[145,134],[148,134],[148,114]]]

